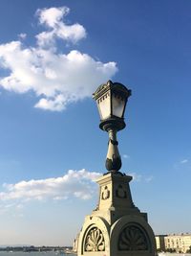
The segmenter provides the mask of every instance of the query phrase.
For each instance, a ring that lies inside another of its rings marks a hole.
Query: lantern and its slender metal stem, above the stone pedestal
[[[131,90],[122,83],[112,81],[101,84],[93,94],[100,115],[99,128],[109,133],[105,166],[109,172],[113,173],[117,173],[121,167],[117,148],[117,131],[125,128],[124,111],[130,96]]]

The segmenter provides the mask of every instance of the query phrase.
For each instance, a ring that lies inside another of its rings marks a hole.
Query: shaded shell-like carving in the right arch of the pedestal
[[[119,250],[148,250],[149,244],[144,234],[138,226],[132,224],[126,226],[118,237]]]

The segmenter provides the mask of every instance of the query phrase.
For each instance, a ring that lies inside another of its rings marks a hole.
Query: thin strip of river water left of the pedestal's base
[[[65,254],[63,252],[55,252],[55,251],[46,251],[46,252],[7,252],[7,251],[0,251],[0,256],[76,256],[76,254]]]

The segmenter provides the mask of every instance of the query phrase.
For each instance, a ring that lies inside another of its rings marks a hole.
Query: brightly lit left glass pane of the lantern
[[[110,101],[110,93],[101,96],[101,98],[96,101],[101,120],[107,119],[111,115]]]

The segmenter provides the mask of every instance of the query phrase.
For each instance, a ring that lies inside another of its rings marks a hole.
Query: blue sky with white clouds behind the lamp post
[[[191,2],[0,2],[0,243],[72,244],[96,206],[107,133],[92,93],[132,89],[118,133],[157,234],[191,232]]]

